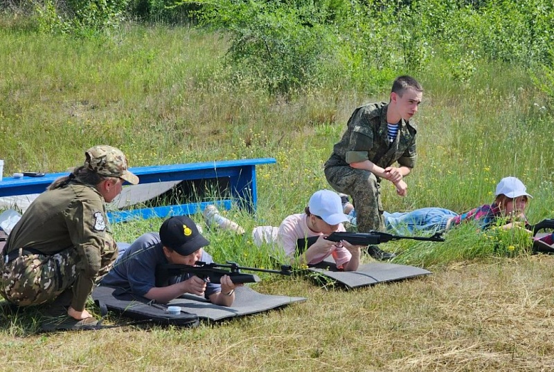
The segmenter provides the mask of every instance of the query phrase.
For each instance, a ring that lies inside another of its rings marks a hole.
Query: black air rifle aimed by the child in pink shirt
[[[310,236],[305,239],[298,239],[298,250],[302,253],[305,249],[310,248],[319,236]],[[445,241],[443,232],[437,232],[431,236],[403,236],[388,234],[388,232],[370,231],[370,232],[332,232],[325,239],[330,241],[348,241],[352,245],[376,245],[400,239],[412,239],[422,241]]]

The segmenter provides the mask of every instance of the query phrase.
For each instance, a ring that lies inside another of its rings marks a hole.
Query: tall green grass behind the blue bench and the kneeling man
[[[300,212],[312,192],[329,188],[323,163],[350,113],[388,100],[388,90],[345,84],[271,96],[229,79],[222,36],[128,24],[109,39],[82,40],[2,28],[4,173],[63,171],[98,143],[123,149],[132,166],[270,156],[278,162],[258,169],[258,213],[236,218],[248,227],[278,225]],[[483,62],[472,84],[462,84],[443,73],[447,61],[436,55],[415,75],[425,87],[415,118],[418,164],[406,198],[384,183],[386,210],[463,212],[490,203],[500,178],[517,176],[535,196],[530,221],[552,216],[553,116],[545,97],[523,68]],[[131,241],[144,227],[135,230],[122,237]]]

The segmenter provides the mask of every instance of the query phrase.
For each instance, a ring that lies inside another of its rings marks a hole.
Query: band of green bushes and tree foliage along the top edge
[[[6,5],[8,4],[8,5]],[[550,0],[10,0],[32,8],[39,29],[105,34],[123,17],[186,18],[229,38],[225,59],[238,82],[289,94],[313,84],[379,86],[425,73],[434,55],[445,77],[471,82],[483,60],[524,66],[550,79]]]

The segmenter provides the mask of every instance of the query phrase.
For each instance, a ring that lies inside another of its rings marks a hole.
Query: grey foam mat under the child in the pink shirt
[[[379,262],[362,264],[357,271],[339,271],[334,261],[327,260],[307,270],[330,277],[348,289],[431,274],[430,271],[415,266]]]

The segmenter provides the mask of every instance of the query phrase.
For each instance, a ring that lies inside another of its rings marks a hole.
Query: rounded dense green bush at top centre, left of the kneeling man
[[[316,82],[334,45],[334,32],[325,27],[328,13],[313,3],[226,0],[203,5],[202,24],[229,32],[225,60],[237,80],[253,78],[273,93],[288,95]]]

